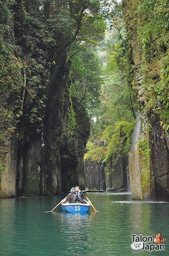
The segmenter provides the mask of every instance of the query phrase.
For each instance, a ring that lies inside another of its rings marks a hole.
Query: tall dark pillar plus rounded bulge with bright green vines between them
[[[47,88],[44,152],[48,194],[67,192],[76,184],[85,188],[83,155],[90,123],[77,99],[70,98],[66,57],[65,50],[59,53],[59,64],[52,68]]]

